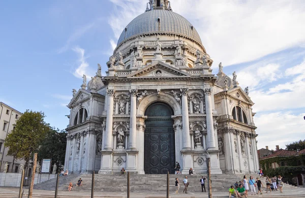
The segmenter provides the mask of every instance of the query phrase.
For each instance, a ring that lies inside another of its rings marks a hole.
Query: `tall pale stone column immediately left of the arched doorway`
[[[131,93],[131,104],[130,104],[130,139],[129,149],[135,150],[137,140],[137,94],[138,90],[130,90]]]

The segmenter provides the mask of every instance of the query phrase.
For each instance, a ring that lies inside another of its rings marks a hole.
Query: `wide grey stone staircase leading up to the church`
[[[180,182],[180,191],[184,189],[184,185],[182,180],[186,175],[170,175],[170,191],[175,190],[175,178],[179,178]],[[187,175],[189,180],[188,190],[192,192],[200,192],[201,185],[200,179],[201,176],[207,177],[205,175]],[[250,175],[247,175],[250,177]],[[257,175],[253,175],[253,177],[257,177]],[[76,183],[78,179],[81,178],[83,180],[82,186],[76,187]],[[242,180],[243,174],[222,174],[222,175],[212,175],[212,190],[213,191],[227,191],[231,185],[237,181]],[[132,192],[156,192],[156,191],[166,191],[166,175],[130,175],[130,190]],[[205,180],[206,181],[206,180]],[[263,185],[265,185],[265,180],[261,179]],[[67,190],[69,183],[73,183],[73,191],[90,191],[92,185],[92,175],[91,174],[79,174],[79,175],[69,175],[67,177],[59,178],[59,190]],[[54,190],[56,185],[56,179],[51,179],[39,184],[34,185],[34,189],[41,190]],[[205,185],[207,189],[207,183]],[[285,185],[285,189],[287,188],[297,188],[292,185]],[[182,189],[182,190],[181,190]],[[127,190],[127,174],[119,176],[118,174],[113,175],[104,175],[104,174],[96,174],[95,175],[95,191],[122,191],[125,192]],[[257,189],[256,189],[257,190]]]

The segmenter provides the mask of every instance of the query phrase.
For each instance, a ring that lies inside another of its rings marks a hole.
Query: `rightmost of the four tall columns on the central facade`
[[[204,90],[205,93],[205,110],[206,110],[206,128],[207,128],[207,149],[216,150],[211,94],[212,88]]]

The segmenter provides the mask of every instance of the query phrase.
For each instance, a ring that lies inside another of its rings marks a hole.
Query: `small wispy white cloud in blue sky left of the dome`
[[[78,67],[76,68],[73,75],[78,78],[82,78],[83,74],[87,76],[87,80],[90,76],[94,76],[94,73],[89,70],[89,63],[86,62],[85,50],[80,47],[74,47],[72,49],[74,52],[78,54]]]

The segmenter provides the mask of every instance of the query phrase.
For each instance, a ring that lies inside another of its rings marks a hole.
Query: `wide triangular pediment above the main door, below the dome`
[[[137,77],[188,77],[189,73],[179,70],[178,68],[172,67],[163,62],[157,62],[146,66],[134,73],[131,73],[128,78],[137,78]]]

